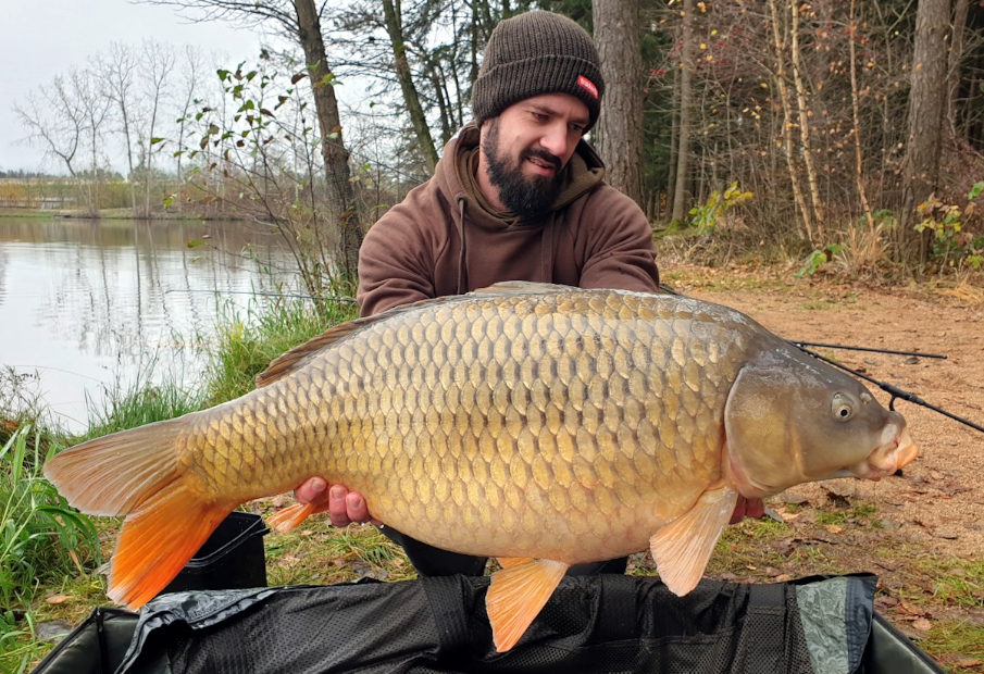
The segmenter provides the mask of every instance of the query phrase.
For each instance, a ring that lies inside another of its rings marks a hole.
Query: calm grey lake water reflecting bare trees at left
[[[269,301],[256,294],[289,269],[278,235],[250,223],[0,217],[0,366],[82,430],[108,389],[148,372],[194,382],[195,337],[220,309]]]

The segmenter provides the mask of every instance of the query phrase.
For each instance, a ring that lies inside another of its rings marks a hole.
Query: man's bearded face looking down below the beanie
[[[482,125],[478,185],[494,205],[521,217],[549,212],[589,121],[587,107],[566,93],[524,99]]]

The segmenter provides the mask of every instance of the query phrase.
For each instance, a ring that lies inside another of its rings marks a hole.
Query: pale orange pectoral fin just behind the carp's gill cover
[[[649,538],[660,579],[677,597],[697,586],[737,499],[731,487],[708,489],[690,510]]]

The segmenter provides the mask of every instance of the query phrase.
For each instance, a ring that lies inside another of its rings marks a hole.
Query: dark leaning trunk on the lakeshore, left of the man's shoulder
[[[321,132],[328,213],[331,222],[338,223],[339,271],[346,280],[354,283],[358,277],[362,227],[359,224],[354,192],[349,179],[349,153],[341,138],[338,101],[332,86],[334,75],[328,70],[325,43],[321,35],[321,20],[314,0],[294,0],[294,7],[297,11],[298,40],[304,50]]]

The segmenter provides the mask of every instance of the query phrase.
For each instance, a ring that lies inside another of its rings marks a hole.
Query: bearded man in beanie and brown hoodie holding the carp
[[[359,253],[363,316],[502,280],[656,292],[652,230],[603,182],[584,135],[605,83],[590,36],[534,11],[499,23],[472,88],[474,122],[444,149],[434,177],[369,230]],[[361,495],[321,477],[298,487],[333,524],[365,522]],[[736,511],[740,519],[744,504]],[[424,545],[389,527],[421,575],[481,575],[484,558]],[[621,572],[625,560],[573,567]]]

